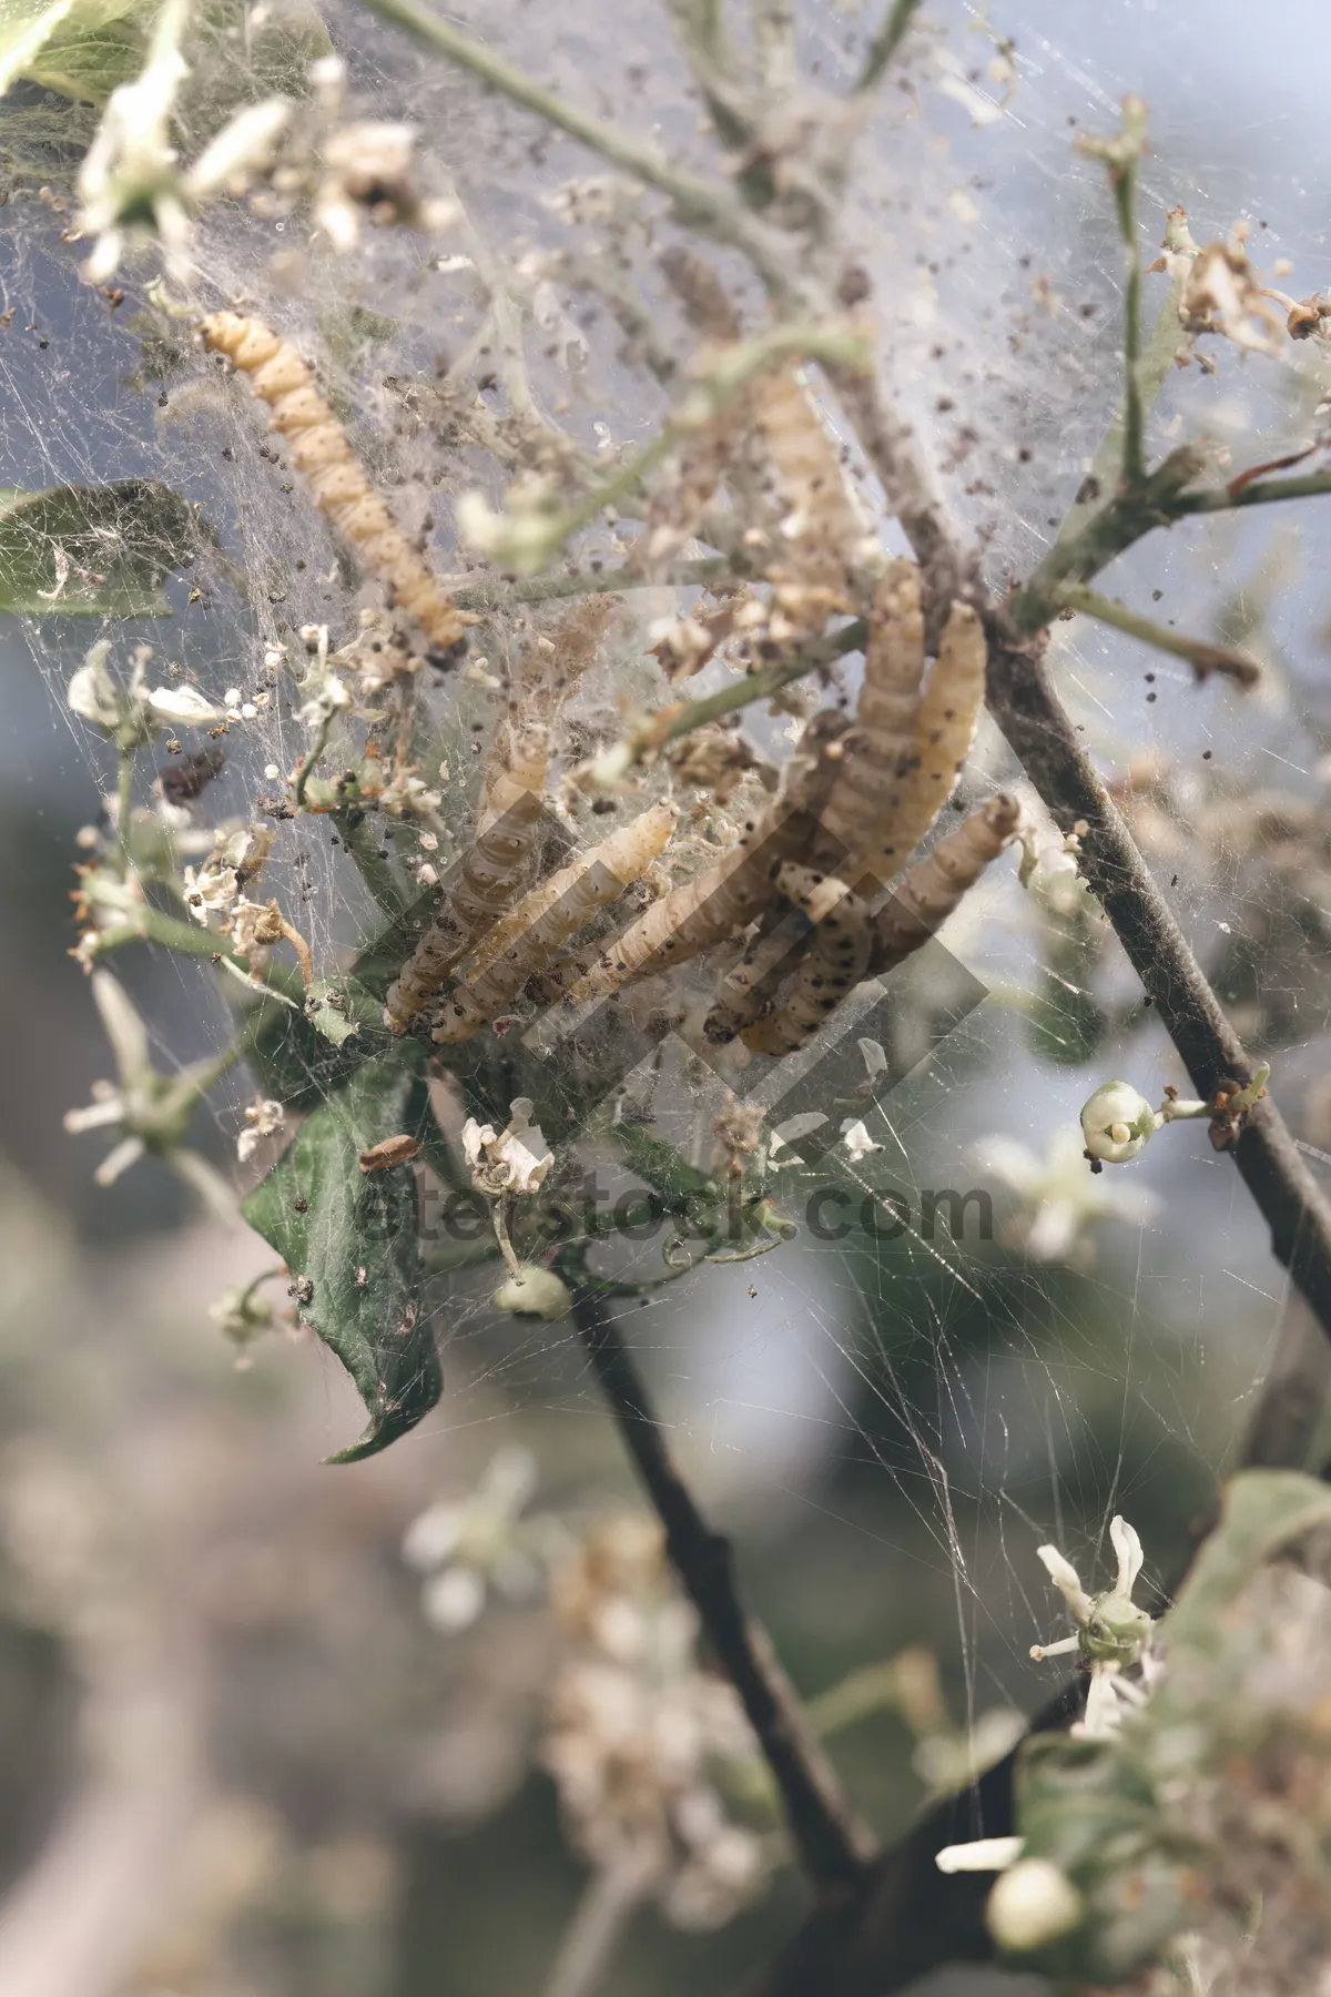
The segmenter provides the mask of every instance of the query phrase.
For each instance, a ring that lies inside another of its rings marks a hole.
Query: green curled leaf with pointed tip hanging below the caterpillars
[[[355,1380],[369,1426],[331,1464],[375,1456],[429,1414],[443,1392],[421,1302],[415,1174],[361,1172],[359,1154],[419,1136],[429,1118],[415,1046],[361,1066],[297,1130],[245,1220],[291,1270],[297,1312]]]

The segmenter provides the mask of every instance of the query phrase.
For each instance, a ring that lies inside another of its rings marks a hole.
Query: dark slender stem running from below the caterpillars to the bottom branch
[[[824,1903],[844,1909],[846,1897],[866,1875],[874,1853],[872,1835],[840,1793],[772,1640],[740,1602],[730,1542],[694,1504],[597,1278],[573,1254],[563,1258],[563,1272],[573,1288],[573,1322],[597,1384],[665,1526],[670,1564],[772,1769],[800,1861],[822,1889]]]

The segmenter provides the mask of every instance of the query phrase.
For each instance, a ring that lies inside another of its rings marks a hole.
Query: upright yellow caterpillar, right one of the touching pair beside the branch
[[[980,617],[970,603],[954,603],[920,701],[912,755],[896,785],[896,815],[878,851],[864,855],[876,883],[900,871],[956,789],[984,707],[986,657]],[[866,883],[858,887],[870,893]]]

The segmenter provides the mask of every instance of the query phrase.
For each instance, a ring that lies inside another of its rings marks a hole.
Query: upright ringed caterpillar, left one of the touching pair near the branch
[[[842,873],[890,837],[916,751],[922,683],[920,571],[896,561],[874,591],[854,729],[818,813],[818,865]]]

